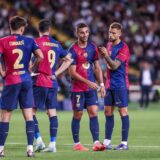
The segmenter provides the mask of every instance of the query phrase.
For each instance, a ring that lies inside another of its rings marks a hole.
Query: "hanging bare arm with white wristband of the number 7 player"
[[[103,98],[106,94],[106,90],[105,90],[105,86],[104,86],[104,83],[103,83],[103,74],[102,74],[102,70],[101,70],[101,67],[100,67],[100,64],[99,64],[99,61],[95,61],[94,62],[94,73],[95,73],[95,76],[96,76],[96,79],[99,83],[99,86],[100,86],[100,93],[101,93],[101,97]]]

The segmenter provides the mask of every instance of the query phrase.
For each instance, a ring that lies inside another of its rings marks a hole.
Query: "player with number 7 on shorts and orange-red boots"
[[[97,47],[88,42],[89,28],[85,23],[80,23],[76,27],[77,41],[70,47],[69,53],[72,55],[73,63],[69,72],[73,78],[72,85],[72,136],[74,140],[73,150],[88,151],[79,140],[80,120],[83,109],[86,108],[90,119],[90,131],[94,141],[93,151],[104,150],[104,146],[99,142],[98,124],[98,84],[95,82],[94,72],[100,85],[101,96],[105,96],[102,71],[98,61]]]

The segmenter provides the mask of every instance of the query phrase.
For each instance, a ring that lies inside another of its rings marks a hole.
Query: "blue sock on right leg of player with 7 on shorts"
[[[92,134],[93,141],[99,140],[99,124],[98,117],[90,117],[90,131]]]

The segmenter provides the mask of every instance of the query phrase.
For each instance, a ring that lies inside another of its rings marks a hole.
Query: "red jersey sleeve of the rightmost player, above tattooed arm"
[[[128,46],[124,45],[118,52],[118,55],[116,56],[116,59],[125,62],[129,58],[129,48]]]

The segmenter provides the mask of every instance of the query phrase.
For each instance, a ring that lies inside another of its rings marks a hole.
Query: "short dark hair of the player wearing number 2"
[[[9,25],[12,30],[17,30],[20,27],[26,27],[27,21],[23,17],[20,16],[13,16],[9,19]]]

